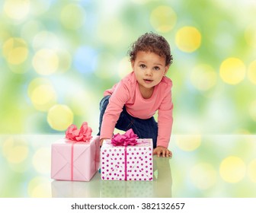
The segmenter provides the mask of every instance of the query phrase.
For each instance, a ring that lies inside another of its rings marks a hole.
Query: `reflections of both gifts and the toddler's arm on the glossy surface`
[[[153,181],[101,181],[96,173],[89,182],[56,181],[51,183],[53,197],[152,198],[171,197],[170,159],[154,158]]]

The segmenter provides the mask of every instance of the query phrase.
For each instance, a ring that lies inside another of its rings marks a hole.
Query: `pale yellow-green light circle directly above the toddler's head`
[[[171,7],[158,6],[150,15],[150,23],[152,26],[161,33],[171,31],[177,21],[177,15]]]

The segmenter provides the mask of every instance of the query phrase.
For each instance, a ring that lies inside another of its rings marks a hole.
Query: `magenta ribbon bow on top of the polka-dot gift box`
[[[137,144],[136,139],[138,138],[139,137],[136,134],[134,134],[133,129],[129,129],[123,135],[120,135],[119,133],[114,135],[111,139],[111,144],[114,146],[134,146]]]

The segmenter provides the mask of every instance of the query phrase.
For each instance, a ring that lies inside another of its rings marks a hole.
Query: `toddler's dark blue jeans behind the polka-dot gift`
[[[101,135],[101,123],[109,103],[110,95],[105,96],[100,103],[100,123],[98,135]],[[126,107],[123,106],[123,111],[120,113],[120,117],[117,120],[115,128],[127,131],[128,129],[133,129],[133,132],[138,135],[139,138],[152,138],[153,148],[156,147],[156,140],[158,135],[158,123],[155,122],[154,117],[149,119],[139,119],[131,116],[126,111]]]

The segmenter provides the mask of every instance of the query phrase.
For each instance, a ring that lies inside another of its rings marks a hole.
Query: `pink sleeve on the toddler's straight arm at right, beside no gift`
[[[168,148],[168,144],[171,138],[171,129],[173,123],[173,103],[171,100],[171,88],[159,106],[158,109],[158,138],[157,146],[163,146]]]

